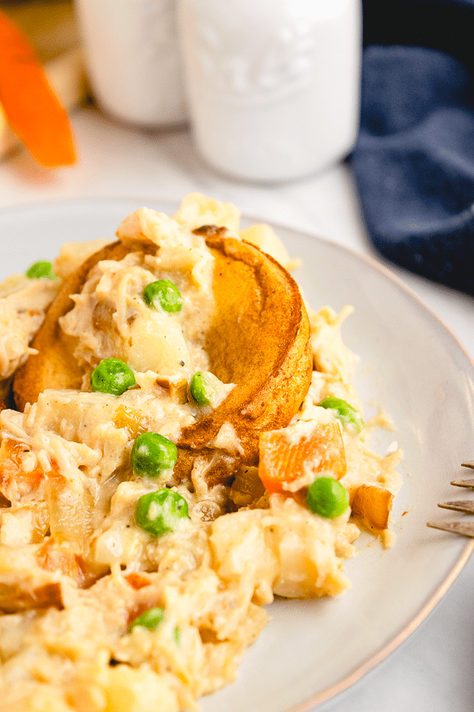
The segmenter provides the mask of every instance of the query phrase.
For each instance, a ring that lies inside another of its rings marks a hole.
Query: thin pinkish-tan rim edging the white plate
[[[169,198],[162,199],[159,197],[144,198],[126,195],[83,195],[80,197],[66,197],[63,199],[45,200],[38,201],[35,203],[17,204],[14,206],[2,207],[0,209],[0,221],[4,217],[6,218],[8,216],[21,215],[25,213],[31,214],[36,211],[53,209],[54,207],[58,207],[60,209],[67,209],[68,207],[81,205],[85,206],[85,204],[91,203],[95,203],[98,205],[109,204],[110,206],[112,206],[125,202],[140,202],[144,206],[146,206],[147,204],[169,205],[171,209],[177,208],[180,203],[179,200],[173,200]],[[468,350],[464,347],[463,343],[460,341],[458,336],[455,335],[453,330],[451,330],[451,328],[446,325],[443,319],[438,316],[436,312],[434,312],[433,309],[431,309],[431,307],[429,307],[423,301],[423,299],[416,294],[413,288],[404,283],[404,281],[394,272],[392,272],[389,267],[385,266],[379,261],[376,261],[376,258],[361,253],[346,245],[339,244],[327,237],[320,236],[318,234],[312,233],[311,231],[300,229],[298,227],[293,227],[289,224],[280,223],[278,221],[270,220],[265,217],[254,216],[244,212],[241,213],[241,218],[251,223],[266,223],[273,227],[276,231],[281,230],[293,232],[295,234],[298,234],[298,236],[302,236],[303,238],[310,239],[311,241],[315,241],[316,243],[323,244],[328,248],[335,250],[336,252],[339,251],[340,253],[344,253],[346,256],[349,256],[349,258],[352,258],[356,262],[362,261],[366,264],[366,266],[372,268],[372,270],[376,271],[387,281],[389,281],[389,283],[391,283],[392,286],[399,290],[399,292],[410,298],[411,302],[414,303],[418,309],[421,308],[421,310],[423,310],[423,312],[428,315],[428,317],[433,321],[433,323],[436,323],[436,325],[438,326],[441,325],[444,333],[448,335],[448,337],[454,342],[455,346],[458,347],[461,352],[463,352],[463,355],[467,358],[468,362],[470,363],[470,366],[473,368],[474,371],[474,357],[470,355]],[[453,585],[453,582],[456,580],[458,575],[460,575],[460,572],[463,570],[470,556],[473,554],[474,539],[470,539],[467,537],[465,539],[466,542],[463,550],[461,550],[460,555],[453,564],[453,567],[451,567],[451,570],[448,572],[448,575],[446,575],[443,582],[441,582],[441,585],[439,585],[438,588],[430,595],[430,597],[428,597],[428,600],[426,600],[421,609],[418,609],[418,612],[416,612],[414,617],[412,617],[411,620],[388,643],[374,651],[373,654],[367,656],[367,659],[365,659],[362,663],[359,663],[356,669],[352,670],[349,674],[344,676],[344,678],[337,681],[337,683],[332,684],[326,689],[315,693],[314,695],[310,696],[309,698],[306,698],[305,700],[297,703],[296,705],[293,705],[292,707],[288,708],[286,712],[311,712],[312,710],[315,710],[316,707],[320,707],[323,703],[330,700],[335,700],[337,696],[344,693],[344,691],[349,690],[349,688],[354,686],[354,684],[360,681],[370,671],[374,670],[377,666],[379,666],[379,664],[386,660],[397,648],[399,648],[399,646],[401,646],[401,644],[404,643],[411,636],[411,634],[415,632],[415,630],[428,617],[428,615],[433,611],[433,609],[436,608],[436,606],[444,597],[444,595],[446,595],[446,592],[448,592],[448,590],[450,589],[451,585]]]

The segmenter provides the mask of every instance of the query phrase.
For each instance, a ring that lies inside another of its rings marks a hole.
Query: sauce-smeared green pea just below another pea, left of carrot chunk
[[[184,497],[167,487],[142,495],[135,507],[137,524],[155,537],[176,530],[179,520],[188,518],[188,503]]]

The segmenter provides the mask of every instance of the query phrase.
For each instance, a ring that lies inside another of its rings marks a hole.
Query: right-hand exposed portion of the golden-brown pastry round
[[[246,461],[256,463],[260,431],[288,425],[310,386],[310,324],[297,284],[278,262],[225,230],[212,232],[206,244],[216,258],[216,315],[206,352],[211,371],[237,385],[208,417],[184,429],[181,445],[202,447],[230,422]]]

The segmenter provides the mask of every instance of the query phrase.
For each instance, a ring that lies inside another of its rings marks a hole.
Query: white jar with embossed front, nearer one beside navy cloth
[[[295,179],[352,147],[359,0],[179,0],[196,144],[234,177]]]

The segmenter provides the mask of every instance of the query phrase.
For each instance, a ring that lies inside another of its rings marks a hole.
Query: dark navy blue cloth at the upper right
[[[349,162],[379,253],[474,294],[474,0],[364,2]]]

